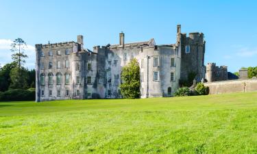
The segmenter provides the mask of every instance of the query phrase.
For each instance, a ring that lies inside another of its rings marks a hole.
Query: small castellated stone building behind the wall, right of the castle
[[[206,66],[206,79],[208,82],[228,80],[228,67],[219,67],[215,63],[208,63]]]

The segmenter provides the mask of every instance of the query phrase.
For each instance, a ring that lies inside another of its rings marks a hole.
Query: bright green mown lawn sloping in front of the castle
[[[0,153],[257,153],[257,92],[2,102]]]

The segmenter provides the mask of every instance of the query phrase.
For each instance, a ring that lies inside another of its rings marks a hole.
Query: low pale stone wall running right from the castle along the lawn
[[[230,81],[217,81],[204,83],[208,87],[209,94],[225,94],[232,92],[257,91],[257,79],[238,79]]]

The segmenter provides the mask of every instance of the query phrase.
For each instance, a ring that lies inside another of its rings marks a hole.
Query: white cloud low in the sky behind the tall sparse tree
[[[12,40],[10,39],[0,39],[0,64],[1,66],[12,62],[12,51],[10,51]],[[24,53],[28,56],[26,58],[25,67],[32,69],[35,68],[36,52],[35,47],[27,44]]]

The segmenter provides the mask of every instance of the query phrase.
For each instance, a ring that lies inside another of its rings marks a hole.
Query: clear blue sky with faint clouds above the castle
[[[34,68],[34,44],[76,40],[84,45],[155,38],[156,44],[175,43],[176,25],[182,32],[201,31],[207,62],[226,65],[231,72],[257,66],[257,1],[14,1],[0,0],[0,64],[11,61],[9,44],[28,44],[26,66]]]

